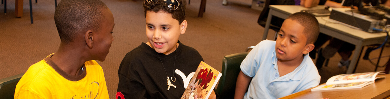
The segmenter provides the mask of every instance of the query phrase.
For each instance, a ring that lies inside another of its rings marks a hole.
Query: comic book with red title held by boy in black
[[[222,73],[200,62],[181,99],[208,99]]]

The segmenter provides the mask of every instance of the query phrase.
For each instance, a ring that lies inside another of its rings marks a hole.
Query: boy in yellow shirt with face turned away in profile
[[[31,65],[15,99],[108,99],[103,70],[113,41],[113,15],[100,0],[61,0],[54,14],[56,53]]]

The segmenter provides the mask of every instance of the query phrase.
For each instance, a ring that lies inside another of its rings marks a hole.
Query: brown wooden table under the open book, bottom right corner
[[[311,91],[312,88],[310,88],[280,99],[388,99],[390,96],[390,74],[378,76],[386,76],[386,78],[378,79],[375,83],[363,88],[322,91]]]

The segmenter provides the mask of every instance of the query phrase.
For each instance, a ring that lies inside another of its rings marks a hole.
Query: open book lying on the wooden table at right
[[[385,74],[384,72],[385,71],[339,74],[329,78],[325,85],[319,85],[316,88],[312,88],[312,91],[362,88],[374,83],[378,78],[386,78],[385,76],[376,77],[378,74]]]

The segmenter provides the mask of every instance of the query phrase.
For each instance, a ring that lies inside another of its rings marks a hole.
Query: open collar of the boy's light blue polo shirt
[[[296,67],[294,71],[286,74],[288,76],[288,79],[294,80],[294,81],[302,79],[303,72],[305,71],[305,69],[303,67],[307,64],[306,61],[307,61],[308,56],[309,56],[308,54],[303,56],[303,60],[302,60],[301,64],[298,67]],[[278,69],[277,65],[276,65],[278,62],[278,58],[276,57],[276,50],[273,50],[273,53],[271,55],[271,59],[272,59],[272,64],[274,65],[274,68]]]

